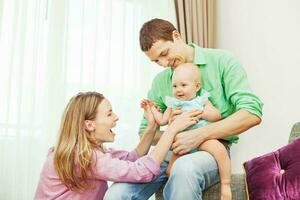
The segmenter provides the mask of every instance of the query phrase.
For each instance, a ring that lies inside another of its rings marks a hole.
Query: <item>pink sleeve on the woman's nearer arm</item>
[[[96,178],[113,182],[146,183],[160,175],[160,166],[151,157],[143,156],[135,161],[122,160],[113,154],[95,153],[93,172]]]

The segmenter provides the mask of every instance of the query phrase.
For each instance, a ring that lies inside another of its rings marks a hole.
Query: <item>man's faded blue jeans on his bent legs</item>
[[[202,191],[219,181],[215,159],[205,151],[186,154],[176,160],[168,179],[166,169],[170,152],[161,165],[161,175],[150,183],[114,183],[106,192],[105,200],[145,200],[166,183],[165,200],[201,200]]]

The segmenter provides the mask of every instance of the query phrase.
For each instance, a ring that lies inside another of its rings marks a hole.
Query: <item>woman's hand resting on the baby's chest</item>
[[[196,124],[201,117],[201,113],[202,111],[200,110],[189,110],[180,115],[176,115],[169,124],[168,129],[177,134],[189,126]]]

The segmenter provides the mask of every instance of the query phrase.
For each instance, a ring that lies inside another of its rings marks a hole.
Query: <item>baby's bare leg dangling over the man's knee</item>
[[[225,146],[218,140],[207,140],[199,146],[217,161],[221,182],[221,200],[231,200],[231,163]]]

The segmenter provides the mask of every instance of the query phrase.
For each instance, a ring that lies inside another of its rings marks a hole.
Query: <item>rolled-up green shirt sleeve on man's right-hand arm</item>
[[[251,90],[245,70],[233,56],[227,56],[224,62],[222,73],[224,92],[234,105],[235,111],[245,109],[261,118],[263,103]]]

